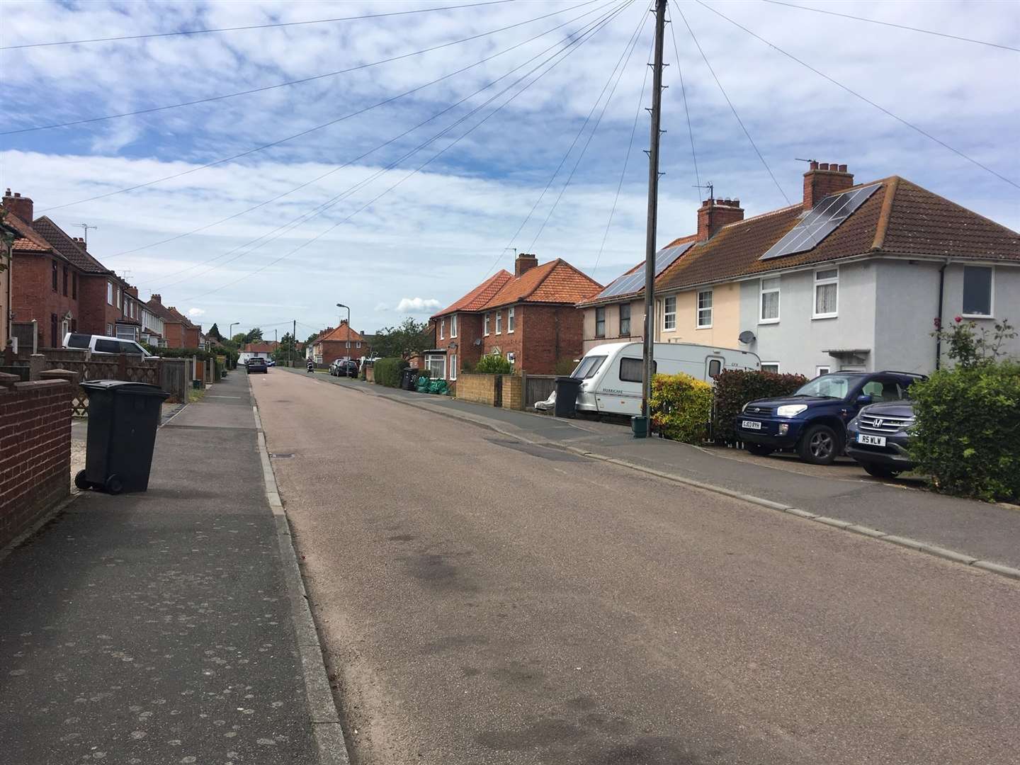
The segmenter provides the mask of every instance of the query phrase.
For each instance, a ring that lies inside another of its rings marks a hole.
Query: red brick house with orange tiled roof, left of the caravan
[[[515,369],[552,374],[558,362],[581,354],[583,315],[575,304],[601,290],[565,260],[539,265],[522,253],[514,273],[499,271],[430,318],[436,348],[425,365],[434,377],[454,381],[482,355],[496,354]]]

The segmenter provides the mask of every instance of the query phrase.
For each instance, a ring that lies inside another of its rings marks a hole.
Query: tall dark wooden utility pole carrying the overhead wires
[[[646,438],[651,427],[649,399],[652,398],[652,368],[655,361],[655,240],[659,217],[659,138],[662,123],[662,45],[666,30],[666,0],[655,2],[655,62],[652,64],[652,129],[648,152],[648,227],[645,233],[645,353],[641,391],[644,428],[634,428],[636,438]]]

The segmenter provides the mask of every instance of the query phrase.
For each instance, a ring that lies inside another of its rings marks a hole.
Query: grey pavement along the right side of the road
[[[980,560],[1020,567],[1020,511],[1012,506],[882,481],[851,463],[821,467],[781,456],[750,460],[735,450],[702,449],[662,439],[634,440],[625,425],[496,409],[345,377],[316,378],[498,427],[529,441],[624,460]]]

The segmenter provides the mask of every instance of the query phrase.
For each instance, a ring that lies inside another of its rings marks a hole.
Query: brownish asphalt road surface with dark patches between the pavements
[[[251,382],[356,765],[1020,761],[1015,581]]]

